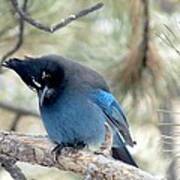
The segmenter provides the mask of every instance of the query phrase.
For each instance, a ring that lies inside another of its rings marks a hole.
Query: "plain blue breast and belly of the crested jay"
[[[56,103],[41,108],[41,114],[49,137],[56,143],[96,145],[104,141],[104,113],[85,95],[66,93]]]

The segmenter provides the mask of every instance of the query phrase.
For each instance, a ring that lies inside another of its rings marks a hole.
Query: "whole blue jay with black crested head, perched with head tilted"
[[[43,124],[56,149],[98,149],[107,126],[113,136],[112,157],[138,167],[127,148],[135,142],[122,106],[98,72],[54,54],[11,58],[3,66],[37,93]]]

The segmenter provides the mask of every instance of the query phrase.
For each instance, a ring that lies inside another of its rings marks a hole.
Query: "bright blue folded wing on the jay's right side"
[[[123,113],[122,107],[114,96],[107,91],[95,90],[91,93],[91,100],[93,100],[104,112],[108,124],[123,137],[124,141],[133,146],[133,140],[129,132],[129,125]]]

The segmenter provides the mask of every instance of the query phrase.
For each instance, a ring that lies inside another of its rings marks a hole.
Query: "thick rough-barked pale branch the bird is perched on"
[[[72,171],[85,175],[85,179],[158,180],[140,169],[89,151],[72,152],[72,149],[66,148],[55,160],[52,153],[54,146],[42,136],[0,133],[0,154],[16,161]]]

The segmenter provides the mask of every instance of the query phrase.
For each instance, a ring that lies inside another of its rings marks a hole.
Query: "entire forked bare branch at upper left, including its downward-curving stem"
[[[76,14],[72,14],[64,19],[61,19],[60,22],[58,22],[57,24],[51,25],[51,26],[47,26],[45,24],[42,24],[41,22],[33,19],[32,17],[29,16],[29,14],[27,13],[27,3],[28,0],[24,0],[23,2],[23,6],[22,8],[19,7],[18,1],[17,0],[10,0],[15,11],[18,13],[19,15],[19,32],[18,32],[18,36],[17,36],[17,42],[15,44],[15,46],[10,49],[7,53],[5,53],[3,55],[3,57],[1,58],[1,64],[11,55],[13,55],[17,50],[19,50],[19,48],[22,46],[23,44],[23,37],[24,37],[24,23],[25,21],[29,24],[31,24],[32,26],[46,31],[46,32],[50,32],[53,33],[65,26],[67,26],[68,24],[70,24],[71,22],[75,21],[76,19],[85,16],[91,12],[94,12],[98,9],[100,9],[103,6],[103,3],[97,3],[89,8],[86,8],[84,10],[79,11]],[[0,66],[0,72],[2,71],[1,66]]]

